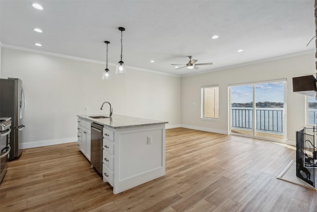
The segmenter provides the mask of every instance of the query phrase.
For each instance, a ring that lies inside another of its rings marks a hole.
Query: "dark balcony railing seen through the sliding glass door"
[[[247,130],[253,129],[253,109],[231,109],[231,127]],[[256,109],[257,125],[259,131],[283,132],[283,110]]]

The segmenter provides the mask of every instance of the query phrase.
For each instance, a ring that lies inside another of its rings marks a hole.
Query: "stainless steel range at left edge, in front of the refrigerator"
[[[0,183],[6,173],[9,161],[11,118],[0,118]]]

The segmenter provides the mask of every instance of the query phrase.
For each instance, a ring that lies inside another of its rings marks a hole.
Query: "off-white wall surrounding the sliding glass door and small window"
[[[293,92],[292,78],[315,74],[315,54],[305,54],[213,71],[181,78],[181,123],[183,127],[215,133],[229,133],[228,86],[230,84],[287,79],[286,143],[295,145],[295,132],[305,126],[305,96]],[[219,85],[219,121],[204,121],[201,116],[201,86]]]

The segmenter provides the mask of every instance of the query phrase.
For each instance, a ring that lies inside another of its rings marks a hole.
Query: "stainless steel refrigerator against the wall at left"
[[[19,148],[24,129],[25,95],[23,82],[18,78],[0,79],[0,117],[11,117],[10,156],[13,160],[20,156]]]

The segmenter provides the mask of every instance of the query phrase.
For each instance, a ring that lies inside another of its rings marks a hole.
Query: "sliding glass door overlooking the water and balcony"
[[[284,140],[286,81],[230,87],[232,134]]]

